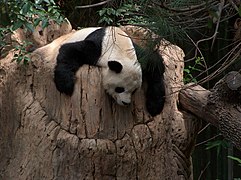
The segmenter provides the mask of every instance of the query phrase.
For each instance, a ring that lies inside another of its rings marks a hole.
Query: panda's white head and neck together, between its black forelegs
[[[119,105],[131,103],[131,95],[141,87],[142,71],[133,43],[120,28],[105,29],[102,54],[103,86]]]

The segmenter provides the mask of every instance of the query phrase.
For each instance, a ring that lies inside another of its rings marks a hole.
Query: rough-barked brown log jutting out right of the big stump
[[[211,91],[187,85],[180,92],[180,104],[183,109],[219,128],[223,136],[241,150],[241,91],[229,88],[228,77],[221,79]]]

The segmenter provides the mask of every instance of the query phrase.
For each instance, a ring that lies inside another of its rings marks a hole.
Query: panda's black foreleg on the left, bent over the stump
[[[84,41],[67,43],[61,46],[54,70],[56,88],[67,95],[72,95],[75,73],[83,64],[96,65],[101,56],[101,44],[105,29],[98,29],[89,34]]]

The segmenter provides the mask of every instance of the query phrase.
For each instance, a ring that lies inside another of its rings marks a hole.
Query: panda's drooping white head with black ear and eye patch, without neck
[[[131,96],[141,87],[142,73],[139,63],[108,61],[103,69],[103,86],[119,105],[131,103]]]

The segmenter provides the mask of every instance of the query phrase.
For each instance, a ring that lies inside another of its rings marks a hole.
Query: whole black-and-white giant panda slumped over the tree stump
[[[72,95],[75,73],[82,65],[100,66],[104,89],[119,105],[128,105],[132,94],[141,87],[145,74],[147,110],[152,116],[162,111],[165,88],[161,56],[158,52],[145,53],[120,28],[84,28],[60,37],[45,49],[52,52],[50,58],[56,59],[54,82],[59,92]],[[138,62],[143,56],[148,59],[147,71],[142,71]],[[152,60],[159,65],[151,67]]]

